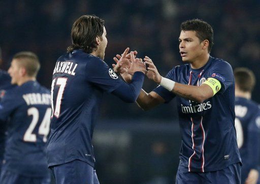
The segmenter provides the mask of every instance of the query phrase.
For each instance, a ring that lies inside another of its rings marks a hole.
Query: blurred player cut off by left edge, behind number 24
[[[0,47],[0,66],[2,65],[2,49]],[[11,77],[10,75],[0,69],[0,101],[5,96],[6,90],[12,88],[14,85],[11,84]],[[5,132],[6,132],[6,124],[0,126],[0,173],[1,167],[3,163],[3,156],[5,150]]]

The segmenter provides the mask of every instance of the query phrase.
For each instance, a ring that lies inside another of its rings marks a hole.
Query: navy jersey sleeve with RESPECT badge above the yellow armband
[[[208,78],[214,78],[220,82],[221,89],[219,90],[219,93],[221,94],[223,94],[224,91],[235,82],[232,67],[229,63],[224,61],[219,61],[212,67],[209,71]]]

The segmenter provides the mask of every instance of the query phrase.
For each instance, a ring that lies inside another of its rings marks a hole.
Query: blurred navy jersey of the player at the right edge
[[[260,146],[260,109],[246,98],[236,97],[235,127],[243,168],[257,169]]]

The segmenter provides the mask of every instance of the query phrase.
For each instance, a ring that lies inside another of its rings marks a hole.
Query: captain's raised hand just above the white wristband
[[[152,59],[150,59],[148,56],[145,56],[144,61],[145,64],[148,65],[146,76],[159,84],[161,81],[161,76],[158,70],[156,69],[155,65],[153,64]]]

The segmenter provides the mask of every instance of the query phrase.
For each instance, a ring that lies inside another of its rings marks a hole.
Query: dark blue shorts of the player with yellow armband
[[[241,183],[241,165],[240,163],[232,164],[227,168],[212,172],[188,172],[178,168],[176,184],[239,184]]]

